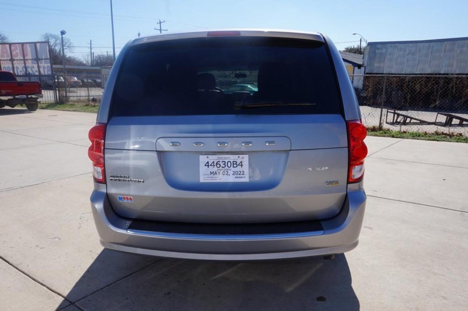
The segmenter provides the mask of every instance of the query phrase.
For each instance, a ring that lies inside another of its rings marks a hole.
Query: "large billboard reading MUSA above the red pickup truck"
[[[52,75],[49,42],[0,43],[0,70],[16,76]]]

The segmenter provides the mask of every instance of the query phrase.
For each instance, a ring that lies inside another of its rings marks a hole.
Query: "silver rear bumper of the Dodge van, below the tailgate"
[[[341,212],[321,221],[323,232],[285,237],[259,236],[240,239],[194,235],[150,235],[129,232],[132,220],[117,215],[105,186],[91,195],[91,208],[104,247],[136,254],[204,260],[268,260],[339,254],[358,245],[366,208],[362,189],[349,190]],[[131,231],[131,230],[130,230]]]

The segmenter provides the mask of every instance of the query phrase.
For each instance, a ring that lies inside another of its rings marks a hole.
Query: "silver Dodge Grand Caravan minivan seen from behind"
[[[230,85],[253,91],[223,91]],[[366,205],[365,137],[326,35],[134,39],[117,57],[89,131],[101,243],[211,260],[349,251]]]

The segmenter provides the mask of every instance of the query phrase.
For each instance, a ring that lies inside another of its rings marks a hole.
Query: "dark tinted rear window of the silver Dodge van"
[[[115,116],[340,111],[322,42],[263,37],[135,45],[124,56],[111,103]]]

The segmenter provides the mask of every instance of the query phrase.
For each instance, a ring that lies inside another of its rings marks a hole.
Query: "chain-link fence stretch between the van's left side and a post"
[[[77,105],[99,105],[108,75],[59,75],[55,77],[58,101]]]

